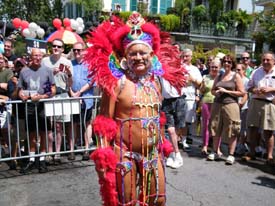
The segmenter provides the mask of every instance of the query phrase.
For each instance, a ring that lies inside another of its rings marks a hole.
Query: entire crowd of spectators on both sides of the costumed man
[[[4,53],[0,54],[1,145],[9,148],[11,157],[16,157],[22,142],[28,139],[29,148],[25,144],[25,150],[30,158],[21,168],[23,173],[37,167],[34,164],[37,153],[40,172],[46,172],[50,162],[60,163],[63,145],[68,149],[68,160],[75,160],[74,149],[81,142],[86,150],[82,160],[89,160],[94,109],[94,99],[89,97],[94,95],[95,85],[88,78],[88,65],[83,63],[86,45],[75,43],[70,58],[64,55],[64,46],[61,39],[55,39],[50,45],[50,55],[33,49],[30,55],[17,57],[12,52],[13,41],[4,41]],[[183,165],[179,146],[186,152],[191,150],[198,125],[201,153],[207,160],[220,159],[224,155],[220,146],[226,143],[227,164],[232,165],[236,155],[250,161],[261,153],[266,155],[269,165],[274,165],[274,54],[264,53],[258,67],[248,52],[243,52],[238,61],[231,55],[211,55],[206,58],[206,64],[200,58],[195,66],[191,63],[192,50],[183,49],[181,59],[188,71],[187,85],[181,94],[167,89],[167,83],[161,81],[162,109],[174,148],[166,165],[172,168]],[[40,99],[69,97],[83,98],[79,99],[79,115],[45,117]],[[31,102],[26,110],[25,103],[5,104],[8,100]],[[10,161],[9,166],[16,169],[17,161]]]

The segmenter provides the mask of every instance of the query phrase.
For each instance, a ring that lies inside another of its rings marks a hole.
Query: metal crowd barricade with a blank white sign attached
[[[56,124],[55,124],[55,116],[60,115],[70,115],[71,121],[66,124],[70,124],[72,138],[75,140],[78,137],[79,142],[75,142],[77,144],[73,150],[73,152],[84,152],[84,151],[91,151],[93,148],[85,149],[84,147],[84,131],[82,130],[82,122],[81,119],[81,101],[84,99],[94,99],[94,106],[92,110],[92,117],[91,120],[94,119],[97,115],[97,111],[99,108],[99,101],[101,96],[89,96],[89,97],[78,97],[78,98],[50,98],[50,99],[43,99],[39,102],[44,104],[44,124],[46,128],[46,147],[47,152],[46,155],[56,155],[56,154],[66,154],[72,152],[70,148],[67,147],[67,140],[66,137],[68,135],[68,130],[65,128],[65,122],[62,122],[62,149],[60,152],[49,152],[49,139],[48,139],[48,128],[51,125],[46,124],[46,118],[51,118],[52,123],[52,133],[53,133],[53,140],[56,142]],[[12,105],[12,113],[6,112],[7,114],[7,127],[1,128],[1,147],[0,147],[0,162],[10,161],[10,160],[19,160],[24,158],[29,158],[30,151],[30,136],[29,136],[29,122],[28,122],[28,105],[33,103],[31,100],[23,102],[21,100],[13,100],[7,101],[5,105],[0,105],[0,117],[3,114],[3,111],[7,110],[7,107]],[[21,105],[21,106],[20,106]],[[22,109],[22,105],[24,105],[24,110]],[[36,154],[34,157],[42,156],[39,152],[39,130],[38,130],[38,104],[35,104],[35,119],[36,119]],[[1,109],[2,108],[2,109]],[[23,110],[23,111],[22,111]],[[20,114],[20,115],[19,115]],[[24,114],[24,119],[22,119],[22,114]],[[73,130],[73,115],[79,115],[79,125],[80,125],[80,132],[75,134]],[[2,121],[2,119],[0,120]],[[15,152],[16,151],[16,152]]]

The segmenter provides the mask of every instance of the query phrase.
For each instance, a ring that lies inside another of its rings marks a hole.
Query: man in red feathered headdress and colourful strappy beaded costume
[[[103,90],[93,122],[98,149],[91,155],[103,205],[165,205],[163,155],[171,148],[161,135],[159,79],[178,91],[184,86],[177,50],[162,48],[159,30],[136,12],[126,24],[115,17],[104,22],[89,43],[91,78]]]

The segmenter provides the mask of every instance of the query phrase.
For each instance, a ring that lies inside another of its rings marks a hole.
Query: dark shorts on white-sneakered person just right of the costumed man
[[[176,129],[185,127],[186,101],[185,95],[178,98],[164,99],[162,109],[166,115],[166,126]]]

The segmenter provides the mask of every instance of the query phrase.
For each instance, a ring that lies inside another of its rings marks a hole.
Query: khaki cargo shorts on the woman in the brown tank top
[[[211,108],[209,130],[212,136],[222,137],[225,141],[231,137],[238,137],[241,130],[239,105],[214,102]]]

